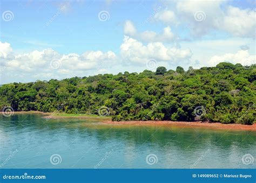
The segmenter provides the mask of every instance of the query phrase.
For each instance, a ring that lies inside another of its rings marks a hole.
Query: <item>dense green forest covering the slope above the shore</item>
[[[0,87],[0,107],[110,115],[113,121],[171,120],[253,124],[256,66],[221,62],[184,71],[99,74]]]

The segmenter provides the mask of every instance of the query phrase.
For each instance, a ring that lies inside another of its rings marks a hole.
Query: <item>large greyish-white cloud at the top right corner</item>
[[[171,1],[167,7],[158,12],[154,19],[168,25],[183,23],[194,37],[218,30],[236,37],[255,38],[256,12],[253,9],[227,6],[221,0]]]

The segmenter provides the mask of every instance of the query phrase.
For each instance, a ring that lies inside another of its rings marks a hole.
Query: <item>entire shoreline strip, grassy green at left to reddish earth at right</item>
[[[2,112],[3,113],[3,112]],[[110,117],[90,116],[86,114],[66,114],[62,112],[42,112],[42,111],[14,111],[14,114],[41,114],[43,118],[62,119],[62,118],[80,118],[80,119],[99,119],[102,124],[109,125],[173,125],[180,127],[201,127],[219,130],[243,130],[256,131],[256,123],[252,125],[245,124],[223,124],[223,123],[207,123],[207,122],[177,122],[177,121],[110,121]],[[57,114],[57,115],[56,115]],[[58,115],[59,114],[59,115]]]

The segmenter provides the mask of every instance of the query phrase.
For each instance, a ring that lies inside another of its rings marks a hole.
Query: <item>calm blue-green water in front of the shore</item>
[[[3,168],[256,168],[255,150],[248,131],[0,116]]]

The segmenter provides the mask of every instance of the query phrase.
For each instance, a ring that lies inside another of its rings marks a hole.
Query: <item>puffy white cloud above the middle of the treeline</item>
[[[140,41],[128,36],[124,37],[124,43],[120,49],[122,59],[136,65],[144,65],[149,59],[177,64],[189,60],[192,55],[189,49],[166,47],[160,42],[143,45]]]

